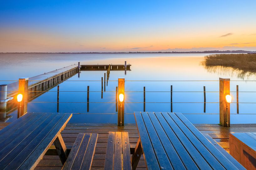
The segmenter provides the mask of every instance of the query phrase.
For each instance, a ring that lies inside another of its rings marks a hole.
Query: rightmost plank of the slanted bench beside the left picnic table
[[[82,170],[90,170],[92,159],[95,153],[96,143],[97,143],[98,134],[91,134],[90,142],[86,149],[85,158],[82,164]]]

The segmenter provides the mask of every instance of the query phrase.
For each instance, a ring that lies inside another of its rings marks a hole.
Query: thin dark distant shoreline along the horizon
[[[226,51],[185,51],[185,52],[178,52],[178,51],[172,51],[172,52],[0,52],[0,54],[202,54],[202,53],[215,53],[215,54],[221,54],[221,53],[255,53],[256,51],[245,51],[245,50],[226,50]]]

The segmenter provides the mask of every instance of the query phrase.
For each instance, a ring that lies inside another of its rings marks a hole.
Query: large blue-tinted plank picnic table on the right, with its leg
[[[143,153],[148,170],[240,170],[181,113],[134,112],[139,132],[132,156],[136,169]]]

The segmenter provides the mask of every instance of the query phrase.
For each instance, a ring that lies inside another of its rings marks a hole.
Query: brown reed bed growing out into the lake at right
[[[226,66],[256,72],[256,54],[212,54],[204,56],[204,66]]]

